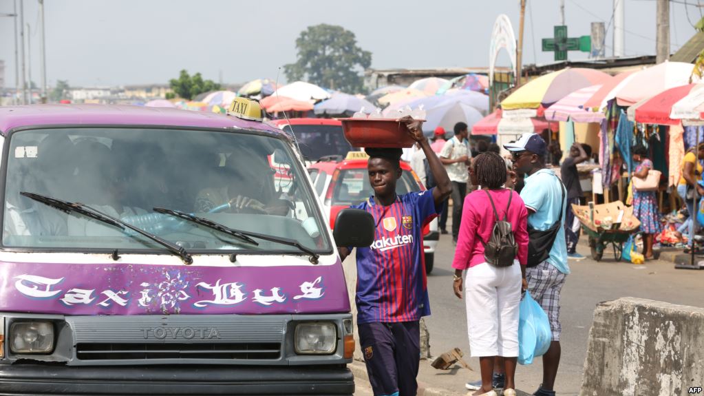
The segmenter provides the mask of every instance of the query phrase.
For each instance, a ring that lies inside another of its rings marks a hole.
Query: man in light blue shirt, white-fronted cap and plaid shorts
[[[545,166],[547,145],[540,135],[525,133],[515,143],[505,144],[504,148],[513,155],[514,168],[523,173],[525,186],[521,198],[528,209],[528,228],[548,230],[553,224],[565,218],[567,202],[562,182],[551,169]],[[534,392],[537,396],[554,396],[555,376],[560,365],[560,290],[565,278],[570,273],[567,266],[567,244],[565,242],[565,224],[560,221],[560,228],[548,258],[532,268],[526,268],[528,290],[539,302],[550,320],[553,333],[548,352],[543,355],[543,383]]]

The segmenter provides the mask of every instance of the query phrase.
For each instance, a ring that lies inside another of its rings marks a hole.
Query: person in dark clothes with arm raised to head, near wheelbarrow
[[[570,147],[570,155],[560,166],[560,178],[567,189],[567,210],[565,211],[565,238],[567,242],[567,259],[584,259],[582,254],[577,253],[577,242],[579,241],[579,218],[574,216],[572,204],[581,205],[579,200],[584,195],[582,185],[579,184],[579,172],[577,163],[582,163],[591,156],[589,144],[574,142]]]

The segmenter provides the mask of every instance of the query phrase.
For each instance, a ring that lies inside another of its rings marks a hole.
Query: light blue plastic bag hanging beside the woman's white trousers
[[[534,357],[548,352],[553,333],[548,315],[530,292],[526,291],[518,310],[518,363],[531,364]]]

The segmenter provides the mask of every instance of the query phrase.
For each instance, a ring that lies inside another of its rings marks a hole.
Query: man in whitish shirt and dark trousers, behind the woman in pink
[[[462,205],[467,195],[467,166],[470,165],[470,143],[467,141],[469,130],[467,124],[455,124],[455,136],[445,142],[440,152],[440,161],[444,164],[452,182],[452,242],[457,245],[462,220]]]

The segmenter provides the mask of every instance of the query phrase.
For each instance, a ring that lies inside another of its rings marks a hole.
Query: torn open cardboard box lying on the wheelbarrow
[[[574,216],[590,230],[603,233],[609,230],[631,231],[639,228],[641,221],[633,216],[633,207],[616,201],[601,205],[572,205]]]

